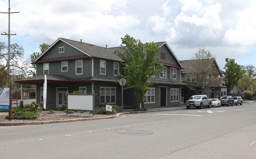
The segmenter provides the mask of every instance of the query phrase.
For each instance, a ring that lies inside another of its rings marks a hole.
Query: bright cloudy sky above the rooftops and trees
[[[256,66],[255,0],[10,0],[11,44],[25,50],[67,38],[105,47],[128,34],[141,42],[166,41],[178,60],[189,60],[198,46],[216,56]],[[8,12],[8,0],[0,0]],[[0,13],[0,32],[8,33],[8,14]],[[8,43],[5,35],[0,41]]]

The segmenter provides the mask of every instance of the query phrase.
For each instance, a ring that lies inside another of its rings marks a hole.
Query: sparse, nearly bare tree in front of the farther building
[[[205,91],[211,93],[212,88],[219,86],[221,80],[218,78],[220,72],[215,62],[215,56],[210,49],[199,46],[191,57],[190,67],[186,68],[184,82],[190,84],[188,88],[199,94]]]

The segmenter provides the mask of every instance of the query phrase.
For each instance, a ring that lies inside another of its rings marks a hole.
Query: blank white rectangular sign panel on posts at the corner
[[[68,95],[68,109],[93,111],[93,95]]]

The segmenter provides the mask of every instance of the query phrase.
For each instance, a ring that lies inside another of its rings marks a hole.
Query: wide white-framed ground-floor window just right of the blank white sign
[[[115,104],[115,87],[100,87],[100,103]]]

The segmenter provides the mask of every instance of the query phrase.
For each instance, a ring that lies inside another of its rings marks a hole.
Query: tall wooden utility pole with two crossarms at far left
[[[11,16],[11,8],[10,8],[10,0],[9,0],[9,8],[8,8],[8,16],[9,16],[9,21],[8,21],[8,34],[5,33],[5,34],[2,34],[1,35],[8,35],[8,66],[7,66],[7,69],[8,69],[8,75],[7,75],[7,88],[9,87],[10,88],[10,101],[9,101],[9,121],[11,120],[11,106],[12,106],[12,93],[11,93],[11,86],[9,85],[10,84],[10,35],[16,35],[15,34],[10,34],[10,16]],[[0,13],[6,13],[6,12],[0,12]],[[19,12],[12,12],[12,13],[19,13]]]

